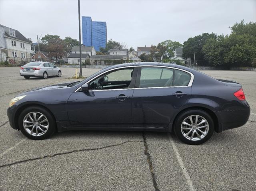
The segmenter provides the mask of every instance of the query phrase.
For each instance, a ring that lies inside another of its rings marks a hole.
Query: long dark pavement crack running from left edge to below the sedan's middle
[[[9,167],[9,166],[12,166],[12,165],[15,165],[15,164],[24,163],[24,162],[28,162],[28,161],[40,160],[40,159],[44,159],[44,158],[53,158],[53,157],[56,157],[56,156],[61,156],[61,155],[71,154],[71,153],[76,153],[76,152],[101,150],[101,149],[104,149],[104,148],[120,146],[120,145],[123,145],[123,144],[126,144],[126,143],[130,143],[130,142],[143,142],[143,141],[125,141],[125,142],[122,142],[120,144],[114,144],[114,145],[104,146],[104,147],[100,147],[100,148],[79,149],[79,150],[73,150],[73,151],[69,151],[69,152],[57,153],[57,154],[53,154],[53,155],[46,155],[46,156],[42,156],[42,157],[21,160],[21,161],[17,161],[17,162],[10,163],[10,164],[4,164],[4,165],[0,166],[0,168],[6,167],[6,166]]]

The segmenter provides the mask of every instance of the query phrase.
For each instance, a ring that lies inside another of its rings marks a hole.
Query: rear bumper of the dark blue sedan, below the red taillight
[[[246,101],[242,101],[243,107],[234,110],[218,111],[219,123],[217,132],[238,128],[246,124],[250,116],[250,106]]]

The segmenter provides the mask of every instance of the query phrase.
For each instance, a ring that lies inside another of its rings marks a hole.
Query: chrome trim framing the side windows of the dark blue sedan
[[[132,68],[132,67],[161,67],[161,68],[171,68],[171,69],[176,69],[176,70],[181,70],[181,71],[184,71],[186,73],[189,73],[191,78],[190,78],[190,81],[188,83],[187,86],[169,86],[169,87],[148,87],[148,88],[126,88],[126,89],[110,89],[110,90],[89,90],[89,91],[111,91],[111,90],[131,90],[131,89],[155,89],[155,88],[180,88],[180,87],[191,87],[192,84],[193,84],[193,81],[194,81],[194,74],[187,71],[187,70],[184,70],[184,69],[180,69],[180,68],[176,68],[176,67],[170,67],[170,66],[158,66],[158,65],[135,65],[135,66],[124,66],[124,67],[119,67],[119,68],[114,68],[114,69],[110,69],[108,71],[105,71],[103,73],[100,73],[99,75],[97,75],[96,77],[94,77],[93,79],[90,79],[87,83],[90,83],[92,80],[96,79],[97,77],[99,77],[100,75],[104,74],[104,73],[107,73],[109,71],[112,71],[112,70],[116,70],[116,69],[122,69],[122,68]],[[78,89],[76,89],[76,91],[74,92],[77,92],[78,90],[80,90],[81,87],[79,87]]]

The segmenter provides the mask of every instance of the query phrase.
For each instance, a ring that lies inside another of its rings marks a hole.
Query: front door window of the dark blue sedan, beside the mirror
[[[105,73],[90,82],[91,90],[127,89],[132,81],[134,68],[119,69]]]

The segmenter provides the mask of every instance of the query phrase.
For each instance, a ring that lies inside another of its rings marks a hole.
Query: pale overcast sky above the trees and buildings
[[[137,49],[168,39],[183,44],[204,32],[230,34],[236,22],[256,22],[256,0],[80,0],[80,14],[105,21],[107,39]],[[0,0],[0,24],[33,42],[41,34],[79,40],[78,1]]]

